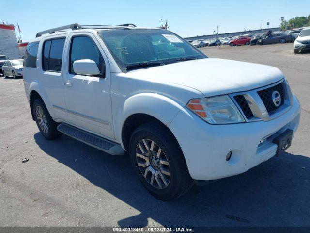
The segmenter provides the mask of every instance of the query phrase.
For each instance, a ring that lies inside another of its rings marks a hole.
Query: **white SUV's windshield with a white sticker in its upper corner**
[[[186,40],[167,30],[114,29],[99,34],[122,71],[140,63],[159,66],[207,58]]]

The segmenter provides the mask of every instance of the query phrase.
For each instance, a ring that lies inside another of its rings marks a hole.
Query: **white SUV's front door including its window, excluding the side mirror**
[[[78,74],[74,61],[93,60],[100,76]],[[91,133],[114,138],[112,129],[110,68],[108,59],[92,33],[72,33],[63,76],[69,123]]]

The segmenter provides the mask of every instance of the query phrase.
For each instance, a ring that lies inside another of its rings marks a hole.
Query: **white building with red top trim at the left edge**
[[[13,24],[0,24],[0,55],[5,55],[8,59],[21,57]]]

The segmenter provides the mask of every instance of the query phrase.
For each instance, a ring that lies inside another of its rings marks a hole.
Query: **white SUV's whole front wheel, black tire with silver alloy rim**
[[[160,124],[139,126],[131,135],[129,154],[141,183],[156,198],[174,200],[192,187],[179,145]]]

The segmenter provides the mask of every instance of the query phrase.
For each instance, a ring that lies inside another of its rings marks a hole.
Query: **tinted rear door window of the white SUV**
[[[47,40],[43,47],[42,66],[44,70],[61,71],[65,38]]]

